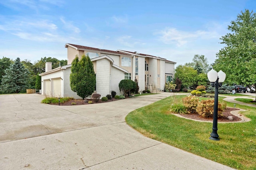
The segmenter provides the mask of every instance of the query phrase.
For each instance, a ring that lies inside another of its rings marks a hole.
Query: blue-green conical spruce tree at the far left
[[[2,76],[2,88],[5,93],[26,92],[29,71],[20,62],[20,58],[14,61],[9,68],[5,70]]]

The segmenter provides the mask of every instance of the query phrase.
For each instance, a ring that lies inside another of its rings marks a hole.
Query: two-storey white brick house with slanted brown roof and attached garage
[[[42,94],[56,97],[80,98],[70,88],[71,63],[78,55],[88,55],[96,74],[95,93],[106,96],[115,91],[120,95],[118,84],[123,79],[138,80],[140,91],[152,88],[164,90],[166,82],[174,78],[175,62],[164,58],[124,50],[111,51],[66,43],[68,65],[51,68],[41,73]]]

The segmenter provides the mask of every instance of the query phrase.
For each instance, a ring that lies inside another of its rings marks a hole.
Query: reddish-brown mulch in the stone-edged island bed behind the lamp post
[[[226,107],[226,110],[222,112],[222,116],[218,117],[218,122],[235,122],[242,120],[241,118],[233,115],[230,113],[230,111],[233,110],[239,110],[231,107]],[[202,117],[199,114],[179,114],[183,117],[189,118],[189,119],[195,119],[195,120],[202,120],[202,121],[212,121],[212,117]],[[228,116],[233,116],[233,120],[227,119]]]

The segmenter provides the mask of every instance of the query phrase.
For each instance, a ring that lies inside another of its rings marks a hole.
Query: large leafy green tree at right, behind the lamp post
[[[231,33],[220,38],[226,46],[216,54],[213,68],[226,73],[228,84],[256,86],[256,14],[241,11],[228,30]]]

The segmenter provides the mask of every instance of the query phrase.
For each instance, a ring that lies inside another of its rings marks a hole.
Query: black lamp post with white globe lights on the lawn
[[[226,79],[226,74],[220,70],[216,72],[214,69],[210,70],[207,73],[208,80],[210,81],[210,85],[215,87],[214,92],[214,109],[213,109],[213,125],[212,125],[212,133],[210,134],[211,137],[209,139],[214,141],[219,141],[218,131],[218,92],[219,87],[222,86],[222,82]]]

